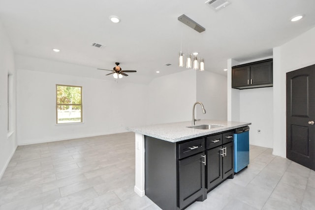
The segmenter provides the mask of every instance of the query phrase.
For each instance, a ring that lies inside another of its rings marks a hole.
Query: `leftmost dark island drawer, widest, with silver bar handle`
[[[178,145],[178,158],[182,159],[193,154],[197,154],[205,150],[205,140],[196,139],[190,142],[182,143]]]

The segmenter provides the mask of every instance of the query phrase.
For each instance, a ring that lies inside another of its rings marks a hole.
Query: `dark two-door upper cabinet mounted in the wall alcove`
[[[272,87],[272,59],[232,67],[232,88]]]

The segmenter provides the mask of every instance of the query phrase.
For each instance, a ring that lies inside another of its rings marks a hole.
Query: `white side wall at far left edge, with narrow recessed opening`
[[[7,130],[8,119],[8,74],[12,77],[10,131]],[[0,22],[0,179],[8,165],[16,147],[16,74],[14,69],[14,54],[2,23]]]

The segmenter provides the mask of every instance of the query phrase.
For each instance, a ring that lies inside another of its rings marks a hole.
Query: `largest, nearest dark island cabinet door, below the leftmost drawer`
[[[179,208],[183,209],[205,196],[205,153],[198,153],[178,161]]]

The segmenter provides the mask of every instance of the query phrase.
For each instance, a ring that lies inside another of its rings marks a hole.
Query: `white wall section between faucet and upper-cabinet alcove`
[[[226,120],[227,119],[227,78],[224,75],[197,71],[197,101],[200,101],[206,110],[202,113],[201,106],[196,106],[196,118]],[[190,105],[192,109],[192,104]]]

